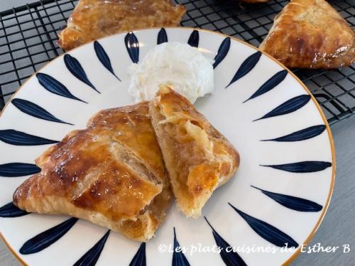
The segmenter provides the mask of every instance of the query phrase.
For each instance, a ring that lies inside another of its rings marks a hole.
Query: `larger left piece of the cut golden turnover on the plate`
[[[173,196],[146,102],[100,111],[36,164],[41,172],[13,194],[18,208],[84,218],[133,240],[154,235]]]

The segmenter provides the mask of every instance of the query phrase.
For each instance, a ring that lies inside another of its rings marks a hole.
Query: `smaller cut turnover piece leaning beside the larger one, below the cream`
[[[239,153],[190,101],[169,87],[160,87],[149,113],[178,207],[196,218],[214,189],[236,172]]]

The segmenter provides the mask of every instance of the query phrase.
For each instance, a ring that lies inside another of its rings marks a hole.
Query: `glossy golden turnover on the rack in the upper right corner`
[[[346,67],[355,62],[355,33],[327,1],[292,0],[260,49],[286,67]]]

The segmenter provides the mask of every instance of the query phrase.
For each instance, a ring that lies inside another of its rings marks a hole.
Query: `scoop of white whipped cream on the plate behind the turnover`
[[[214,89],[213,60],[185,43],[162,43],[148,52],[143,61],[129,67],[129,94],[136,102],[149,101],[160,84],[166,84],[192,104]]]

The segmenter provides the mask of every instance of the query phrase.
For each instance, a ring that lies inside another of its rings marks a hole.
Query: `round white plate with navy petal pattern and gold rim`
[[[87,221],[67,221],[66,216],[21,216],[9,202],[16,187],[38,171],[33,161],[50,146],[43,143],[84,128],[101,109],[132,104],[127,68],[165,38],[198,45],[212,59],[217,56],[215,92],[195,106],[239,150],[236,176],[214,192],[196,220],[173,206],[146,245]],[[0,209],[0,228],[23,263],[72,265],[85,259],[82,265],[96,260],[97,265],[129,265],[133,260],[132,265],[143,265],[138,260],[148,265],[187,265],[186,260],[190,265],[280,265],[296,253],[278,245],[299,247],[320,225],[334,185],[329,126],[305,85],[251,45],[191,28],[149,29],[84,45],[40,73],[50,77],[31,77],[0,119],[0,206],[8,204]],[[185,253],[170,252],[174,227]],[[224,248],[222,253],[216,245]],[[238,250],[227,253],[227,246]],[[164,247],[168,250],[161,252]],[[208,252],[208,247],[214,249]]]

